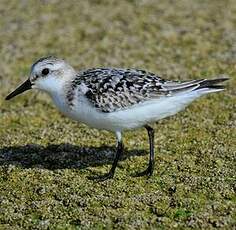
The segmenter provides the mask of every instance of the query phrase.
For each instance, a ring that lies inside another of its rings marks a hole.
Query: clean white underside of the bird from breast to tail
[[[114,132],[142,127],[147,123],[158,121],[183,110],[196,98],[221,91],[217,89],[200,89],[175,96],[165,96],[137,104],[125,110],[103,113],[94,108],[82,95],[77,95],[75,105],[70,108],[59,95],[52,95],[58,109],[66,116],[87,124],[88,126]]]

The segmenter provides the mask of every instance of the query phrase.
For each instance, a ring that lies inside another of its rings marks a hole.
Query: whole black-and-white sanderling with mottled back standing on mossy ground
[[[140,69],[92,68],[76,72],[67,62],[44,57],[31,67],[29,78],[6,100],[29,89],[48,93],[66,116],[88,126],[112,131],[117,151],[110,171],[98,179],[112,178],[123,152],[122,132],[145,127],[150,156],[146,170],[138,176],[152,175],[154,168],[154,130],[150,124],[183,110],[194,99],[224,89],[227,80],[200,79],[184,82],[164,80]]]

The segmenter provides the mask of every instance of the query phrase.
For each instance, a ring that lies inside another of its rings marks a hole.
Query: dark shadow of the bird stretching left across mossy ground
[[[41,146],[28,144],[0,148],[0,166],[16,165],[22,168],[44,168],[49,170],[84,169],[111,164],[115,148],[109,146],[80,147],[71,144]],[[122,159],[146,155],[145,150],[125,150]]]

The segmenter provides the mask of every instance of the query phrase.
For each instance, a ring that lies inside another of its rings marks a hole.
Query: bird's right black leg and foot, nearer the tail
[[[149,164],[146,170],[137,173],[135,176],[145,176],[145,175],[151,176],[154,169],[154,129],[148,125],[145,125],[145,128],[148,131],[148,137],[149,137],[149,146],[150,146]]]

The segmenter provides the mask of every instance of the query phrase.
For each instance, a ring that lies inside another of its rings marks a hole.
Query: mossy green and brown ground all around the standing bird
[[[236,2],[0,2],[0,229],[235,227]],[[4,97],[37,58],[75,68],[138,67],[169,79],[227,74],[227,90],[157,122],[154,175],[144,129],[124,135],[125,155],[107,172],[115,139],[59,114],[50,99]]]

